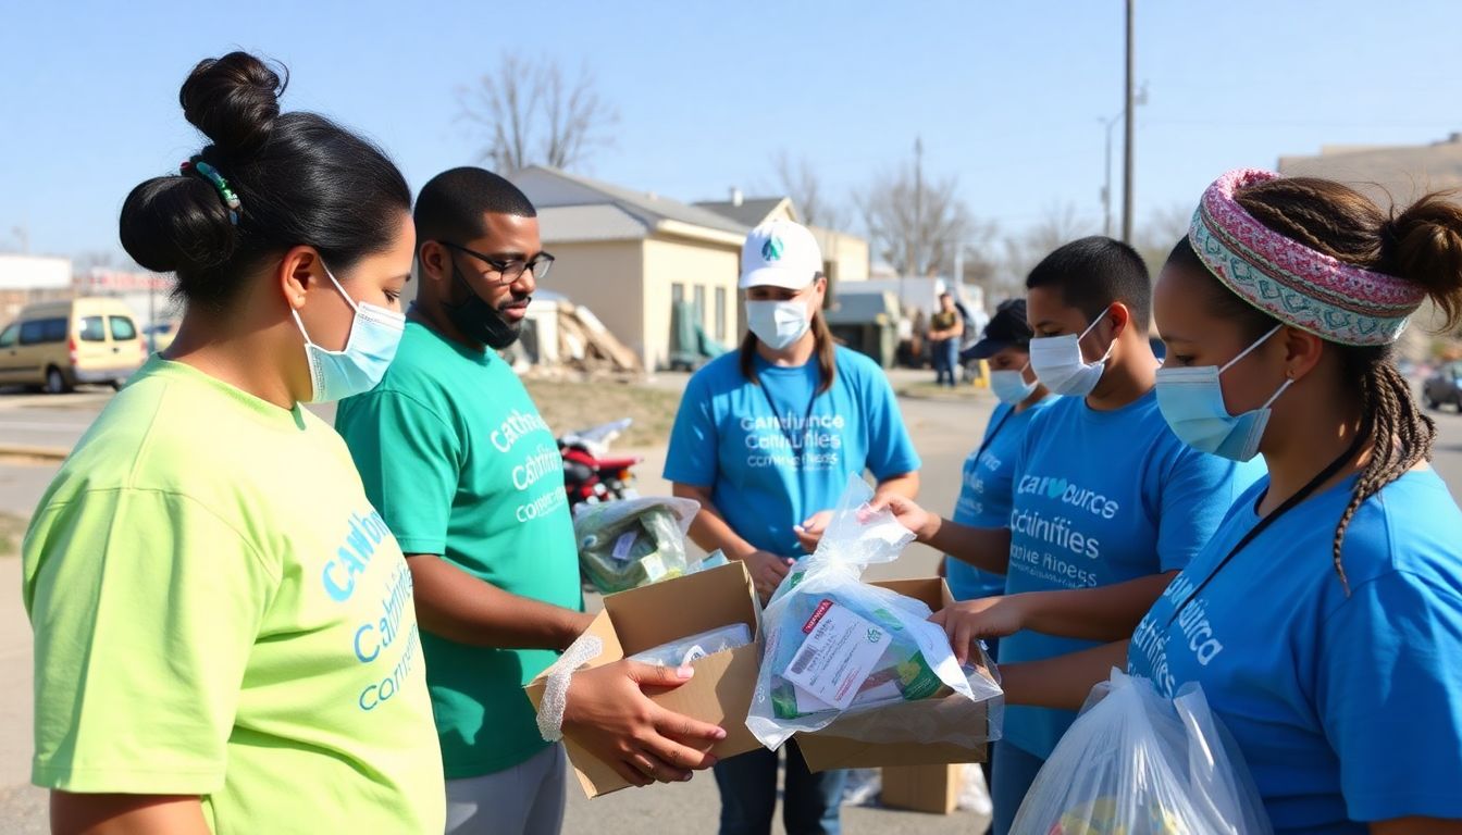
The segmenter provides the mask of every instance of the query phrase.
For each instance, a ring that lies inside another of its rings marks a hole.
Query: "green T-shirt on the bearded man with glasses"
[[[579,610],[563,458],[513,370],[406,323],[386,379],[335,426],[408,554],[437,554],[494,586]],[[423,633],[447,779],[519,765],[547,743],[523,695],[557,654]]]

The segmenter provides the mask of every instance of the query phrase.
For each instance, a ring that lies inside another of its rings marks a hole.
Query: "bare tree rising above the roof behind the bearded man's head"
[[[558,64],[516,54],[459,89],[458,101],[461,118],[488,137],[481,158],[503,173],[582,165],[595,149],[613,145],[608,129],[618,121],[586,69],[569,80]]]

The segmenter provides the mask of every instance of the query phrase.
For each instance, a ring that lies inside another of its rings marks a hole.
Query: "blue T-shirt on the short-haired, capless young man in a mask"
[[[1162,420],[1156,392],[1113,411],[1060,398],[1026,427],[1016,458],[1006,592],[1080,589],[1187,566],[1224,513],[1263,474],[1187,446]],[[1095,646],[1018,632],[1000,641],[1003,662]],[[1006,740],[1051,756],[1076,714],[1009,706]]]

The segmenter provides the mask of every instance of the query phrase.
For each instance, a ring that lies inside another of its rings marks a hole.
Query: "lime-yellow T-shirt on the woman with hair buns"
[[[23,560],[37,785],[196,794],[219,834],[442,832],[411,572],[310,412],[152,358]]]

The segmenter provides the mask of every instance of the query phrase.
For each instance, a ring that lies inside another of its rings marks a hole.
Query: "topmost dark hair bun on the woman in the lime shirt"
[[[281,67],[282,69],[282,67]],[[279,117],[279,75],[249,53],[205,58],[183,82],[183,116],[225,155],[250,154],[269,139]]]

